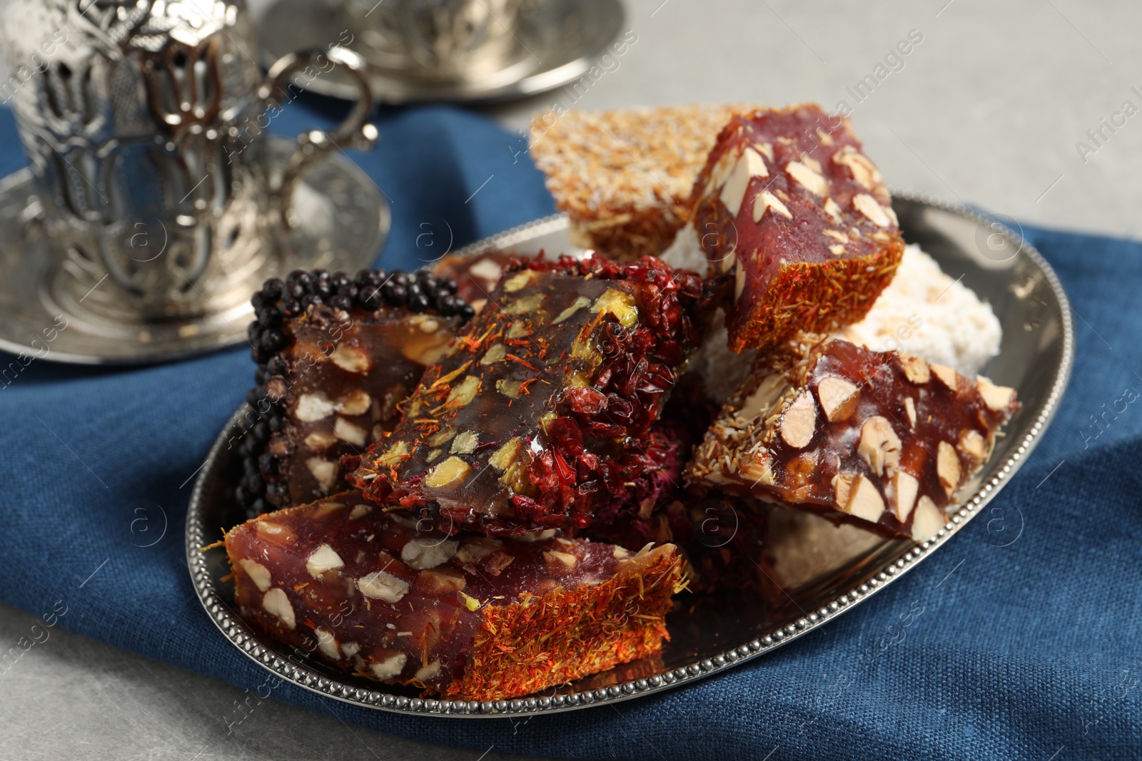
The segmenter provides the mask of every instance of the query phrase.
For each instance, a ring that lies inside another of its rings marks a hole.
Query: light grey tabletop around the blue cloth
[[[262,13],[268,3],[250,5]],[[589,87],[483,111],[518,129],[556,104],[817,100],[833,111],[845,102],[895,187],[1021,221],[1142,233],[1136,1],[627,0],[627,10],[637,41]],[[909,33],[923,40],[854,97]],[[32,623],[0,605],[0,642]],[[270,701],[230,732],[242,696],[56,629],[2,675],[0,759],[507,758],[387,737]]]

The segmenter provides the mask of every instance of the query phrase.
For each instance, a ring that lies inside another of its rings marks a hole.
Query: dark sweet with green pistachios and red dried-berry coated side
[[[587,526],[654,467],[650,430],[709,301],[650,257],[517,262],[351,480],[450,531]]]

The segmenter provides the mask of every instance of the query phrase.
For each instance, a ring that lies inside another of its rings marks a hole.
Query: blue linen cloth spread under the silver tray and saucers
[[[292,106],[274,129],[327,123]],[[448,107],[378,123],[376,152],[354,157],[392,200],[383,266],[553,211],[518,136]],[[0,171],[24,164],[6,111],[0,145]],[[1070,390],[991,515],[858,609],[722,677],[562,715],[400,717],[287,685],[273,697],[383,732],[552,756],[1139,758],[1142,245],[1023,232],[1076,309]],[[251,373],[238,348],[153,367],[34,362],[0,386],[0,599],[265,694],[267,672],[217,632],[183,560],[191,476]]]

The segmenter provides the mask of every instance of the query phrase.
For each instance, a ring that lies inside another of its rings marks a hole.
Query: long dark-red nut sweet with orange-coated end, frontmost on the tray
[[[528,695],[660,651],[683,584],[671,545],[417,526],[346,492],[233,528],[242,616],[357,675],[461,701]]]

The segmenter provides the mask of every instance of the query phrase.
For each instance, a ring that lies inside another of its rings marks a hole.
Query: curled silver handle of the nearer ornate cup
[[[286,89],[290,86],[298,87],[295,76],[314,64],[319,64],[319,70],[321,70],[321,58],[344,66],[353,84],[359,89],[360,96],[354,102],[349,113],[332,132],[312,129],[297,136],[297,151],[290,156],[281,178],[270,188],[271,202],[276,208],[284,229],[290,229],[296,225],[296,220],[292,220],[290,214],[290,201],[293,197],[293,189],[306,169],[331,151],[343,147],[368,151],[376,145],[379,136],[377,127],[368,121],[373,106],[372,87],[369,83],[369,64],[348,48],[332,46],[328,50],[304,50],[282,56],[270,67],[265,81],[258,87],[258,98],[267,108],[280,106],[281,96]],[[324,72],[324,70],[322,71]]]

